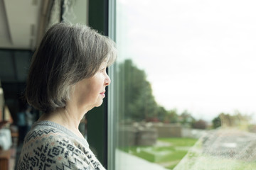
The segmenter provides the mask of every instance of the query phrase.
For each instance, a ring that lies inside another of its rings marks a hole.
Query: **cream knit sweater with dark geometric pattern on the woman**
[[[50,121],[38,121],[32,126],[17,168],[105,170],[85,139]]]

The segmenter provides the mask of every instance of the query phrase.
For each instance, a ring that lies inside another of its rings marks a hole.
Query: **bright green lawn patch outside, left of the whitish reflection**
[[[122,150],[149,162],[161,164],[166,169],[174,169],[196,141],[191,138],[159,138],[157,145],[153,147],[124,147]]]

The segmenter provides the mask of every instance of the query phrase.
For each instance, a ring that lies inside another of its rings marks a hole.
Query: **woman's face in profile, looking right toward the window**
[[[75,102],[78,109],[89,111],[102,104],[106,86],[111,82],[106,69],[107,63],[103,62],[93,77],[83,79],[75,84],[72,101]]]

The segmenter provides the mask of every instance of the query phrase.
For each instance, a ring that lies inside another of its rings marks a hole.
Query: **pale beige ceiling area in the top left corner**
[[[0,0],[0,48],[33,50],[41,0]]]

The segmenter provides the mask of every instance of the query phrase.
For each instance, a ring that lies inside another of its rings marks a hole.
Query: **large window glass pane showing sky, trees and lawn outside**
[[[116,3],[116,169],[256,169],[256,2]]]

